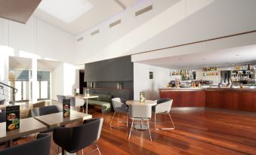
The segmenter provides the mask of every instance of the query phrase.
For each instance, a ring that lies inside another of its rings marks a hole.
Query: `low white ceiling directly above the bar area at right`
[[[256,45],[213,52],[169,56],[161,59],[140,61],[139,63],[164,68],[199,68],[212,65],[233,65],[248,62],[256,62]]]

